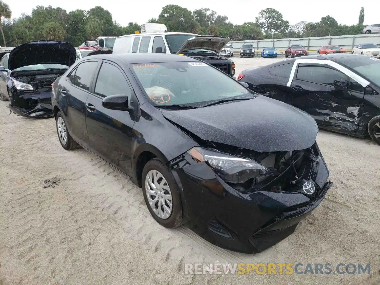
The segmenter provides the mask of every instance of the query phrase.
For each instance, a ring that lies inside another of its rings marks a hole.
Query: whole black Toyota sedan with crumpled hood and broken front
[[[279,242],[332,184],[312,117],[191,57],[88,56],[52,93],[64,149],[129,176],[161,225],[226,249]]]

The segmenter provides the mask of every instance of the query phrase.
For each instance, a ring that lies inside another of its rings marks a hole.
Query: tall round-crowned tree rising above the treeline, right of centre
[[[284,21],[282,14],[273,8],[261,10],[259,16],[256,17],[256,23],[260,25],[264,33],[269,33],[272,30],[284,32],[289,27],[289,22]]]

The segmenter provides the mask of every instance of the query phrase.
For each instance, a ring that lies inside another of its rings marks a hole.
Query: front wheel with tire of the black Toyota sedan
[[[142,171],[142,194],[152,217],[165,228],[182,224],[179,187],[168,166],[161,160],[149,160]]]

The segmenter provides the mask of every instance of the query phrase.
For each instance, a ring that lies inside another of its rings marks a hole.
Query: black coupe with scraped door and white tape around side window
[[[255,92],[309,113],[320,128],[370,136],[380,144],[380,60],[324,54],[243,70]]]

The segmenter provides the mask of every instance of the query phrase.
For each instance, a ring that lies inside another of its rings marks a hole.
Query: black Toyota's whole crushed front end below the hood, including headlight
[[[295,230],[332,182],[317,143],[287,152],[255,152],[207,142],[169,162],[185,223],[225,249],[261,252]]]

